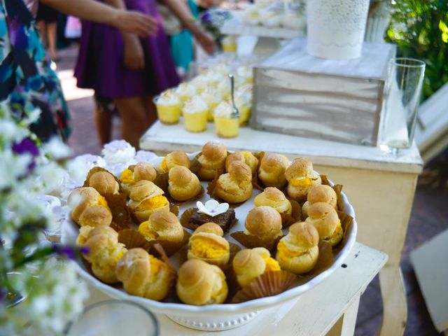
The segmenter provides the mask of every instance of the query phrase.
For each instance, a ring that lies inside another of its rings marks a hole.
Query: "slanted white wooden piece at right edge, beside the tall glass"
[[[425,162],[448,146],[448,83],[419,106],[415,141]],[[437,148],[434,151],[433,148]],[[430,152],[429,155],[425,155]]]

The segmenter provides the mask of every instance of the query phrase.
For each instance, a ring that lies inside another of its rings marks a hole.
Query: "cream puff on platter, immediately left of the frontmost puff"
[[[162,260],[143,248],[131,248],[116,266],[118,280],[126,293],[160,301],[167,297],[175,274]]]

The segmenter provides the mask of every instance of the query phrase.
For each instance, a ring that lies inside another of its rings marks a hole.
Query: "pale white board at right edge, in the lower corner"
[[[411,252],[421,293],[438,332],[448,330],[448,230]]]

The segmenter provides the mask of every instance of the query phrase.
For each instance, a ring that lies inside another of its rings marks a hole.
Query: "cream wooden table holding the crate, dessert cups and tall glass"
[[[181,120],[182,122],[182,120]],[[214,125],[202,133],[187,132],[183,125],[155,123],[141,138],[140,146],[160,155],[176,149],[200,151],[216,137]],[[305,156],[315,169],[339,184],[356,211],[357,240],[389,255],[379,272],[383,297],[381,335],[402,335],[407,322],[405,285],[400,269],[402,249],[414,201],[417,176],[423,162],[415,144],[395,157],[379,148],[303,139],[244,127],[234,139],[220,139],[233,151],[283,153]]]

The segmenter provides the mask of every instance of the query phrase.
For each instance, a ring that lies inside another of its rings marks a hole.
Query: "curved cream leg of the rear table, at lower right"
[[[379,271],[379,286],[383,297],[383,322],[380,336],[401,336],[407,321],[405,282],[400,267],[386,265]]]

